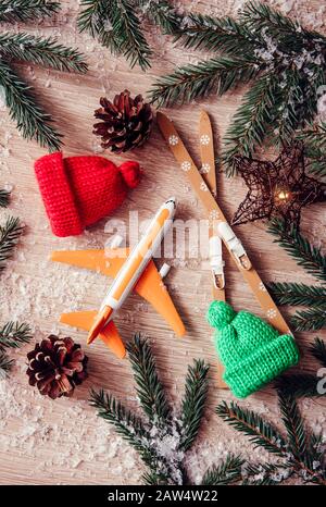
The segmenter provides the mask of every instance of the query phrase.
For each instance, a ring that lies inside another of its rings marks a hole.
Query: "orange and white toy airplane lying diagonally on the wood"
[[[185,326],[162,280],[168,265],[163,264],[159,272],[152,256],[167,233],[175,213],[174,198],[165,201],[147,227],[138,245],[129,252],[128,248],[110,250],[61,250],[53,251],[55,262],[77,265],[115,276],[100,310],[63,313],[60,321],[89,331],[87,343],[100,337],[120,357],[125,357],[125,346],[113,322],[115,312],[135,290],[161,313],[178,336],[185,334]]]

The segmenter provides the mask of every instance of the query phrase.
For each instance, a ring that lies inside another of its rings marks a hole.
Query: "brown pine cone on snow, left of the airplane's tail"
[[[36,344],[27,354],[29,385],[37,385],[40,394],[55,399],[71,396],[75,385],[87,378],[87,361],[80,348],[72,338],[50,335]]]

